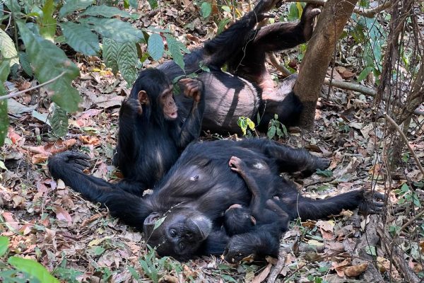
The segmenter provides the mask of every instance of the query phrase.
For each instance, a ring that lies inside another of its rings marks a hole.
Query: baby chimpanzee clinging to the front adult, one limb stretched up
[[[245,161],[242,161],[237,156],[232,156],[228,163],[231,170],[237,172],[240,177],[245,180],[246,186],[252,193],[249,207],[243,207],[241,204],[232,204],[225,210],[224,227],[229,236],[235,234],[246,233],[253,229],[263,229],[263,225],[274,225],[279,233],[285,232],[288,224],[288,214],[271,199],[271,196],[264,195],[266,192],[267,183],[261,183],[265,186],[263,190],[257,185],[257,182],[252,175],[252,171],[269,175],[269,170],[266,164],[254,164],[254,168],[248,168]],[[271,179],[272,180],[272,179]],[[278,200],[278,198],[277,198]],[[281,229],[278,229],[281,227]],[[278,246],[277,246],[278,253]]]

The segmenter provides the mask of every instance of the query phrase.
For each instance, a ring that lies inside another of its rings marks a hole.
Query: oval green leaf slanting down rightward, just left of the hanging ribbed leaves
[[[85,25],[64,22],[60,24],[61,30],[73,50],[86,55],[96,55],[100,50],[98,35],[93,33]]]

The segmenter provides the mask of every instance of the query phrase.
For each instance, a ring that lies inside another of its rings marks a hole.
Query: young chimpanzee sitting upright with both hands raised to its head
[[[181,79],[179,86],[192,100],[189,111],[175,102],[171,81],[158,69],[142,71],[122,103],[114,164],[124,174],[117,184],[123,190],[141,195],[153,188],[187,144],[199,137],[204,85]]]

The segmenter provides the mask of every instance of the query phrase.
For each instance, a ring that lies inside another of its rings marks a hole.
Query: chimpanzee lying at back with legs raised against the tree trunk
[[[314,17],[320,12],[307,4],[299,23],[275,23],[254,30],[281,0],[261,0],[254,9],[203,48],[184,55],[184,71],[175,62],[161,64],[158,69],[173,80],[185,74],[197,73],[205,85],[206,108],[202,127],[211,132],[240,132],[239,117],[257,121],[258,129],[266,132],[274,115],[285,125],[298,122],[302,103],[292,91],[296,77],[274,87],[265,67],[266,52],[295,47],[312,36]],[[227,64],[228,72],[222,71]],[[201,71],[201,65],[210,71]],[[190,101],[177,96],[185,108]]]

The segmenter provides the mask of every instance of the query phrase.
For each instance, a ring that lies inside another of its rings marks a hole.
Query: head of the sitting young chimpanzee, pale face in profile
[[[139,100],[143,113],[150,116],[157,113],[165,120],[175,120],[177,104],[172,93],[172,83],[163,71],[146,69],[141,71],[131,89],[131,98]]]

